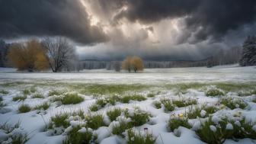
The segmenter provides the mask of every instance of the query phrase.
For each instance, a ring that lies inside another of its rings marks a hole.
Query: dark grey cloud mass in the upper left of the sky
[[[0,0],[0,37],[64,36],[83,44],[108,40],[78,0]]]

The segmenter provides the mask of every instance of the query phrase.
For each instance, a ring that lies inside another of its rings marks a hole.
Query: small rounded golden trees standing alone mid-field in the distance
[[[122,69],[126,69],[129,72],[142,71],[144,69],[143,61],[139,56],[127,56],[126,59],[123,60]]]

